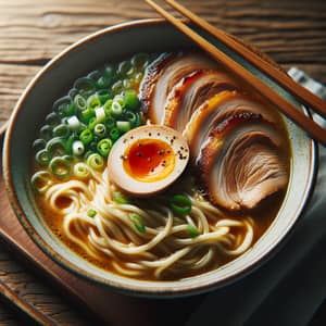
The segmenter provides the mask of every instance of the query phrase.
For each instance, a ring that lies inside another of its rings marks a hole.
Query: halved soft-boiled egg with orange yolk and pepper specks
[[[189,148],[178,131],[161,126],[141,126],[122,136],[108,159],[109,178],[136,196],[164,190],[184,172]]]

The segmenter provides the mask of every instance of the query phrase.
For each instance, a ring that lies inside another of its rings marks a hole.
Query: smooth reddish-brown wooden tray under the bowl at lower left
[[[1,153],[2,141],[3,137],[0,139]],[[11,249],[18,252],[28,265],[32,264],[45,277],[55,281],[64,293],[72,296],[78,304],[87,309],[95,321],[100,319],[105,324],[118,326],[183,325],[203,300],[204,296],[164,300],[128,297],[63,269],[34,243],[17,221],[4,189],[2,163],[0,167],[0,237]],[[28,304],[18,308],[38,321]]]

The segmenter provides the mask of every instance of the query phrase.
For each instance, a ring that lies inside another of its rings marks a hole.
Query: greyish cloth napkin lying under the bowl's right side
[[[304,72],[288,74],[326,99],[326,88]],[[326,126],[325,120],[314,120]],[[288,242],[261,267],[209,293],[187,326],[306,326],[326,299],[326,148],[319,146],[316,187]]]

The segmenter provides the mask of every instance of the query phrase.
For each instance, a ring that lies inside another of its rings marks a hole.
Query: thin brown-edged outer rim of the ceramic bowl
[[[306,208],[306,204],[309,202],[309,199],[311,198],[311,195],[313,192],[314,186],[316,184],[316,172],[317,172],[317,153],[318,148],[315,140],[311,139],[310,141],[310,167],[309,167],[309,178],[305,184],[305,188],[303,191],[303,200],[299,206],[297,206],[296,210],[296,218],[292,224],[290,224],[286,229],[283,230],[281,235],[278,236],[276,243],[269,243],[267,248],[265,248],[264,252],[256,255],[253,263],[251,262],[250,265],[247,265],[242,267],[240,271],[237,269],[233,275],[229,275],[223,279],[218,279],[215,281],[204,281],[204,278],[201,280],[198,279],[199,276],[197,276],[197,285],[196,286],[184,286],[184,287],[148,287],[141,285],[141,283],[136,283],[133,286],[128,286],[124,283],[116,281],[108,278],[103,278],[101,276],[91,274],[84,268],[77,266],[74,263],[71,263],[66,258],[62,256],[59,252],[53,250],[43,239],[42,237],[35,230],[32,223],[28,221],[27,215],[25,214],[23,206],[21,205],[21,202],[16,195],[16,189],[14,187],[14,183],[12,179],[12,173],[11,173],[11,158],[10,158],[10,143],[12,139],[13,134],[13,127],[15,124],[15,121],[20,114],[20,111],[25,102],[25,99],[28,97],[29,92],[34,88],[35,84],[37,84],[38,79],[46,74],[53,65],[55,65],[63,57],[65,57],[67,53],[73,51],[74,49],[77,49],[79,46],[85,45],[89,41],[92,41],[93,39],[97,39],[100,36],[112,34],[120,30],[125,30],[126,28],[133,28],[135,26],[150,26],[150,25],[164,25],[168,24],[165,20],[162,18],[146,18],[146,20],[137,20],[137,21],[128,21],[121,24],[112,25],[105,28],[102,28],[100,30],[97,30],[90,35],[87,35],[83,37],[82,39],[77,40],[73,45],[68,46],[64,50],[62,50],[59,54],[53,57],[43,67],[40,68],[40,71],[35,75],[35,77],[29,82],[27,87],[24,89],[23,93],[21,95],[18,101],[16,102],[14,110],[11,114],[7,133],[5,133],[5,139],[4,139],[4,146],[3,146],[3,177],[4,177],[4,185],[7,189],[7,193],[9,196],[9,200],[11,203],[11,206],[13,208],[13,211],[21,223],[21,225],[24,227],[25,231],[27,231],[28,236],[33,239],[33,241],[48,255],[50,259],[54,260],[61,267],[64,269],[72,272],[73,274],[80,276],[83,278],[86,278],[87,280],[95,281],[100,285],[112,287],[118,291],[122,291],[124,293],[134,294],[138,297],[155,297],[155,298],[175,298],[175,297],[184,297],[184,296],[190,296],[190,294],[198,294],[202,292],[208,292],[210,290],[214,290],[217,287],[222,288],[225,287],[231,283],[234,283],[237,279],[242,278],[243,276],[247,276],[249,273],[255,271],[261,264],[266,262],[271,259],[272,255],[274,255],[287,241],[287,239],[290,237],[290,235],[293,233],[296,225],[300,217],[302,216],[302,213],[304,209]],[[306,114],[309,113],[309,110],[306,110],[303,106],[303,110]],[[109,274],[110,275],[110,274]],[[195,277],[193,277],[195,279]]]

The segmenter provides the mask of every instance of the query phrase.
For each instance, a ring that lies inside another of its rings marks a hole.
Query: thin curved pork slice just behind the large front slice
[[[260,114],[267,122],[279,123],[271,106],[246,93],[225,90],[203,102],[193,112],[183,133],[189,143],[191,161],[199,160],[202,142],[221,122],[231,115],[250,112]]]

